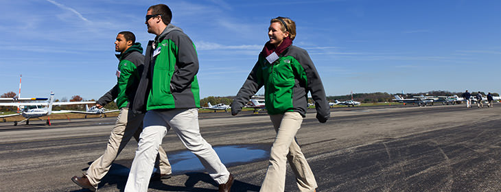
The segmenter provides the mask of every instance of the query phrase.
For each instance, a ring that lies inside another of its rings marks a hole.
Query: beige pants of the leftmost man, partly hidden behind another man
[[[134,136],[136,141],[139,141],[139,134],[143,130],[143,117],[143,114],[132,115],[132,112],[128,108],[120,109],[117,121],[115,122],[115,128],[111,131],[104,154],[94,160],[91,167],[87,170],[86,176],[94,187],[97,188],[101,179],[110,170],[115,158],[124,149],[132,136]],[[155,167],[157,170],[160,170],[160,173],[172,173],[169,160],[167,160],[167,154],[165,154],[162,147],[159,148],[159,155],[156,156]]]

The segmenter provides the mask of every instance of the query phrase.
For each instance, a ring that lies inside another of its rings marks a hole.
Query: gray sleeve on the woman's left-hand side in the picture
[[[259,62],[253,67],[253,70],[250,71],[250,74],[247,77],[247,80],[244,82],[240,91],[238,91],[237,96],[233,99],[233,103],[231,103],[231,115],[237,115],[238,112],[242,110],[250,97],[253,97],[259,88],[263,86],[263,82],[259,80]]]

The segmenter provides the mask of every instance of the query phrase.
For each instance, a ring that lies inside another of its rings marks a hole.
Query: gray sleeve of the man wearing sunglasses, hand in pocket
[[[193,82],[196,73],[198,73],[198,56],[193,42],[185,34],[180,34],[176,45],[178,47],[178,58],[170,82],[172,92],[183,91]]]

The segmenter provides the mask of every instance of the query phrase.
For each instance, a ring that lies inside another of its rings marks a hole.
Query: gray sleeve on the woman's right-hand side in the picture
[[[316,119],[324,123],[330,117],[329,102],[327,101],[327,97],[325,97],[325,89],[323,88],[322,80],[320,79],[320,75],[318,75],[318,71],[316,71],[312,59],[307,51],[304,49],[301,50],[303,53],[299,54],[296,59],[301,63],[303,69],[305,69],[307,91],[310,91],[315,101]]]

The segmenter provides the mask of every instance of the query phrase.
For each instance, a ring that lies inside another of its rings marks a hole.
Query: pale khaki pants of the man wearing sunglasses
[[[222,164],[212,146],[202,138],[198,125],[197,108],[148,110],[144,129],[137,143],[136,156],[130,166],[125,192],[148,191],[149,176],[153,171],[154,155],[167,131],[174,130],[185,147],[198,157],[209,176],[218,184],[228,181],[230,173]]]

